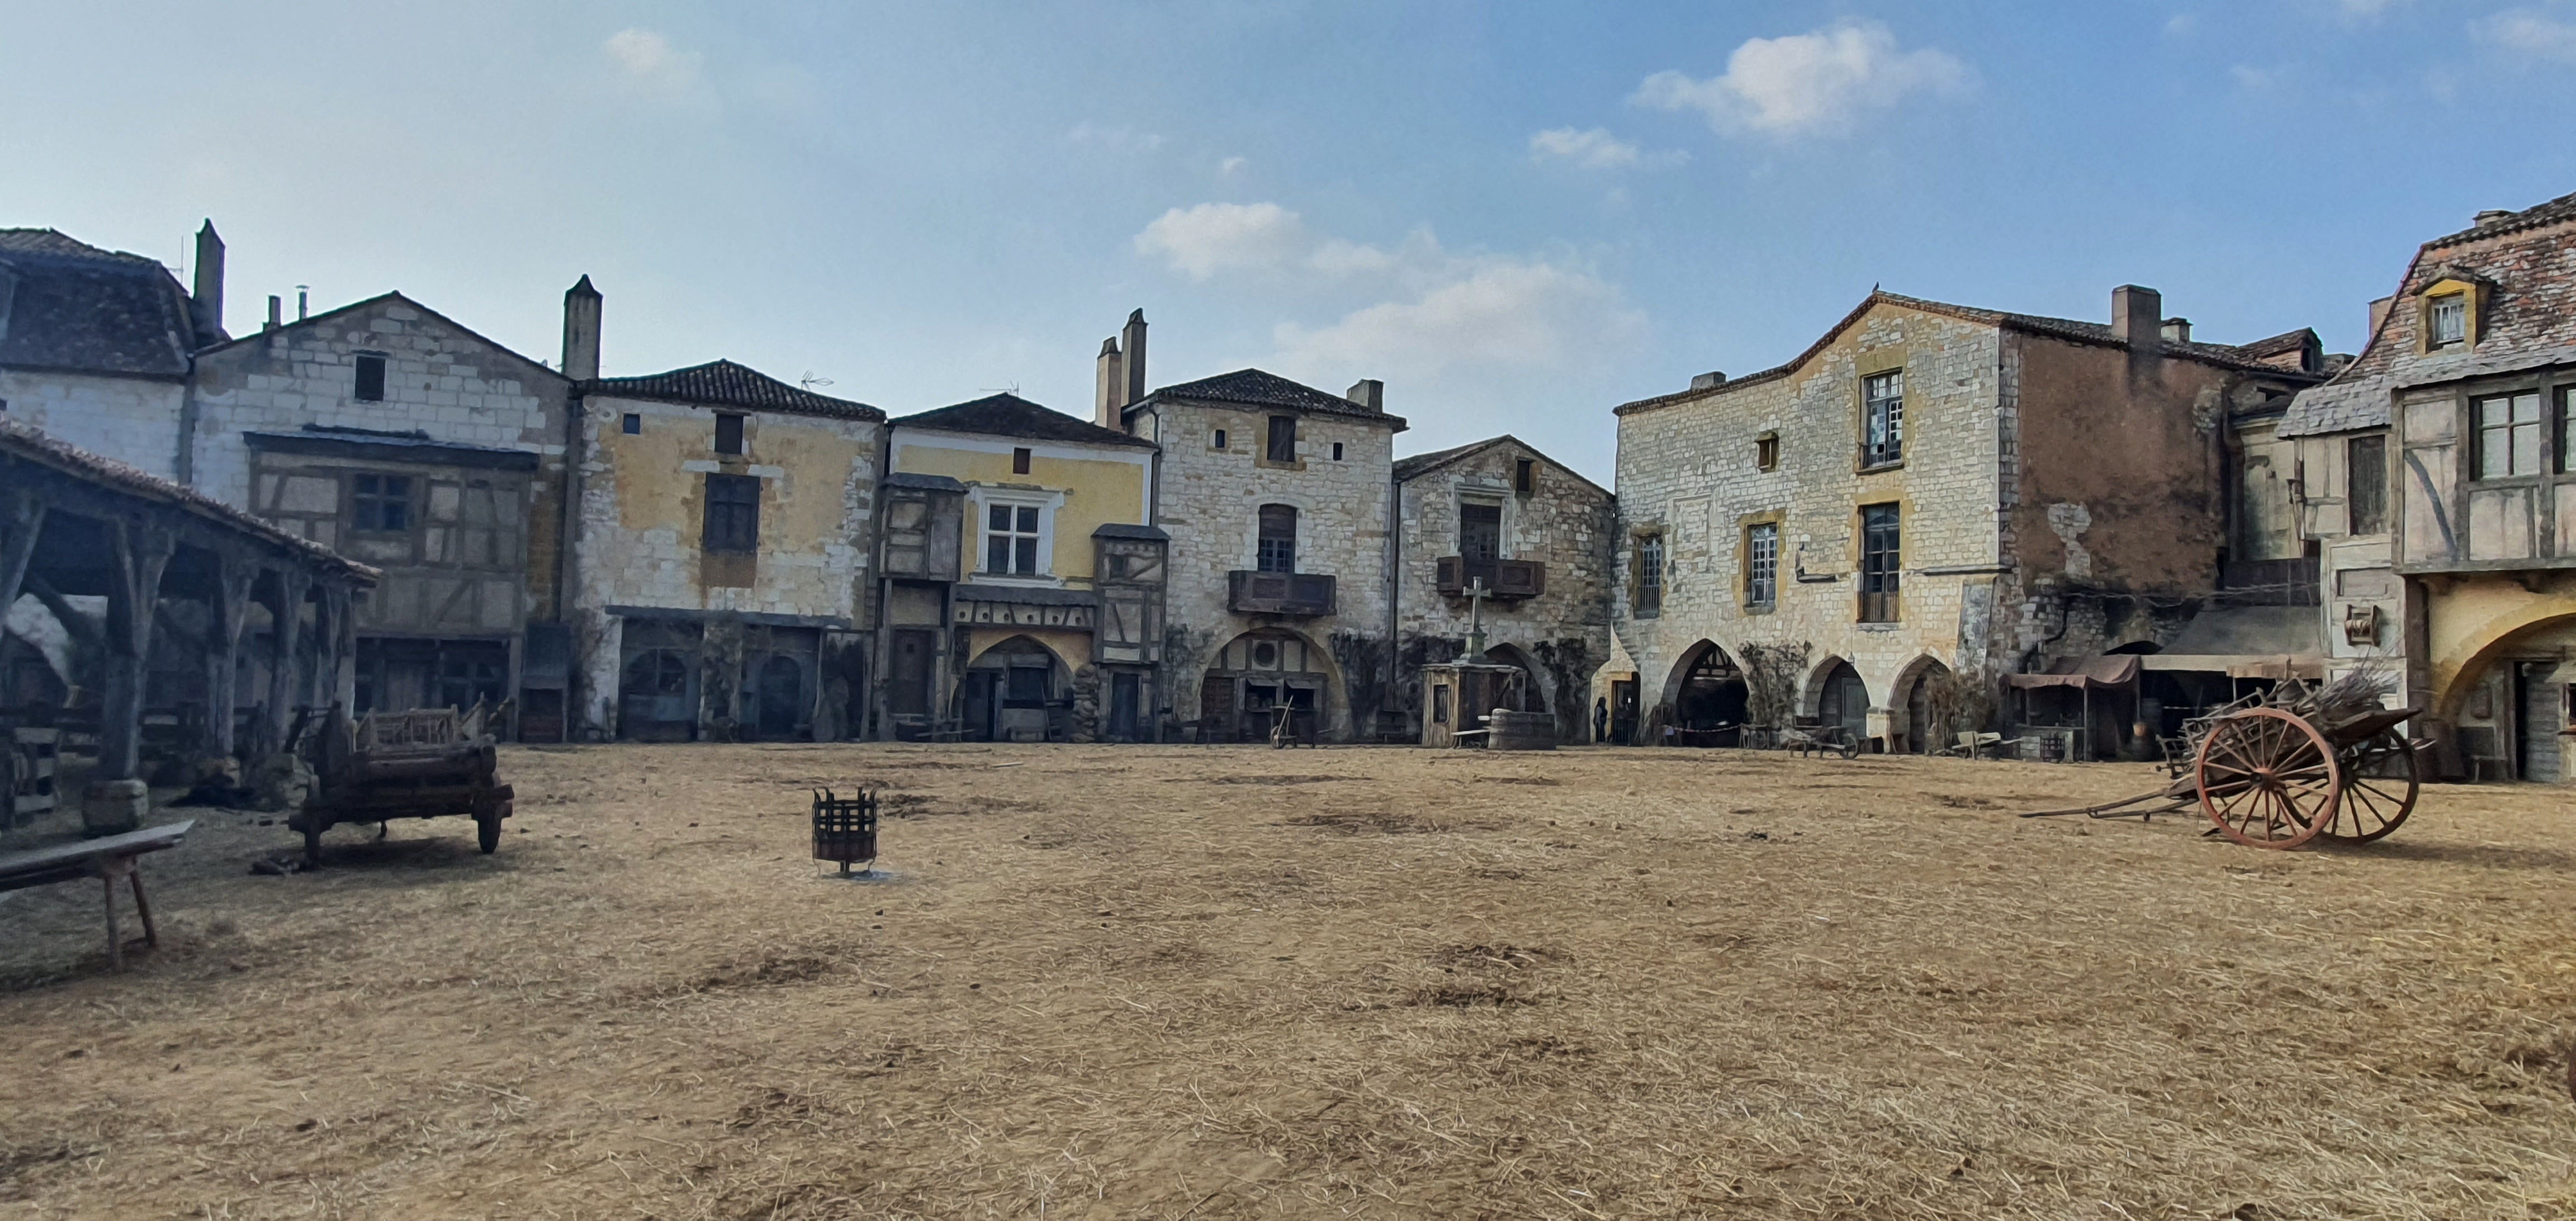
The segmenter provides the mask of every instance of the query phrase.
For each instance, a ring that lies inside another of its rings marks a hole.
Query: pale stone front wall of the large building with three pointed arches
[[[1880,304],[1788,376],[1728,384],[1620,417],[1620,644],[1638,662],[1643,714],[1669,698],[1698,641],[1741,659],[1744,644],[1811,641],[1814,675],[1834,659],[1860,672],[1875,708],[1901,708],[1924,659],[1981,665],[2002,559],[1999,466],[2007,417],[1994,327]],[[1857,471],[1860,379],[1906,374],[1904,466]],[[1780,435],[1780,466],[1754,466],[1754,440]],[[1901,618],[1860,623],[1860,505],[1896,502],[1904,523]],[[1744,605],[1741,538],[1780,520],[1772,608]],[[1633,613],[1636,541],[1669,546],[1659,616]],[[1808,580],[1801,580],[1801,569]],[[1963,659],[1965,644],[1965,659]],[[1891,732],[1906,732],[1891,724]]]

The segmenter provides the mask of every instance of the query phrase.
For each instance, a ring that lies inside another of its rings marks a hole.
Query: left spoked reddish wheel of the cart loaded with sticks
[[[2210,724],[2192,783],[2218,835],[2249,847],[2313,840],[2344,796],[2326,734],[2280,708],[2246,708]]]

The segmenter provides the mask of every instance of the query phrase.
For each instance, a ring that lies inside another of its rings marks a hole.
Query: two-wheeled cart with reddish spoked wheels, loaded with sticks
[[[2378,840],[2406,822],[2421,791],[2424,742],[2398,729],[2421,708],[2388,708],[2391,690],[2396,677],[2385,667],[2360,667],[2324,685],[2280,683],[2184,721],[2187,750],[2169,786],[2022,817],[2154,819],[2197,804],[2213,835],[2249,847]]]

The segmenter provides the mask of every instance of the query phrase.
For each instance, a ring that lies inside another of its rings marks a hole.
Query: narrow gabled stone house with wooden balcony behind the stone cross
[[[1520,670],[1517,708],[1553,714],[1561,742],[1589,739],[1592,672],[1610,657],[1610,492],[1512,435],[1396,459],[1394,484],[1394,683],[1409,737],[1422,667],[1466,657],[1481,621],[1476,659]]]

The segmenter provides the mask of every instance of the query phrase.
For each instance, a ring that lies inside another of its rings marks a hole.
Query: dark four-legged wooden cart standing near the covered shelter
[[[500,822],[518,796],[500,783],[500,752],[484,732],[487,721],[502,719],[502,708],[376,711],[353,724],[335,703],[307,747],[314,788],[304,809],[286,819],[304,832],[304,863],[322,863],[322,832],[343,822],[384,827],[386,819],[440,814],[471,817],[474,842],[484,853],[497,850]]]

